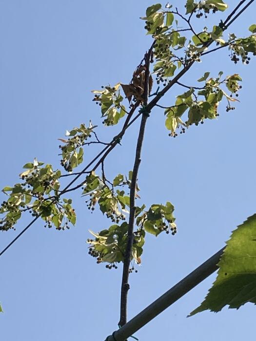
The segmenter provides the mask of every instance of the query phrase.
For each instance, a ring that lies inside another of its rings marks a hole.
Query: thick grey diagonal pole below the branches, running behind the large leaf
[[[145,324],[153,320],[158,314],[180,299],[183,295],[201,283],[218,269],[218,262],[225,247],[215,253],[206,262],[199,265],[188,276],[166,291],[155,302],[148,305],[132,320],[123,325],[119,330],[108,336],[105,341],[124,341],[136,333]]]

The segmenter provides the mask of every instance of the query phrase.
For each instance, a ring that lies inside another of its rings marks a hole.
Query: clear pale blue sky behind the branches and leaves
[[[183,11],[184,1],[169,1]],[[229,0],[230,8],[238,0]],[[149,0],[0,0],[0,187],[19,181],[34,157],[59,167],[59,142],[66,129],[92,119],[109,141],[117,128],[100,126],[92,89],[129,82],[151,44],[139,19]],[[165,3],[163,3],[164,5]],[[255,23],[253,4],[230,28],[248,35]],[[218,23],[227,13],[212,16]],[[207,25],[204,19],[196,27]],[[210,26],[210,25],[209,25]],[[256,212],[255,76],[256,61],[235,65],[228,51],[205,56],[182,78],[188,85],[205,71],[243,78],[235,111],[220,108],[217,120],[168,137],[161,109],[147,124],[139,171],[141,202],[171,201],[178,233],[147,236],[138,274],[131,276],[129,318],[223,247],[231,231]],[[173,104],[175,88],[163,100]],[[107,175],[132,169],[138,122],[127,131],[105,164]],[[96,149],[86,152],[86,160]],[[0,259],[0,338],[4,341],[103,341],[117,329],[121,266],[109,271],[88,255],[88,229],[108,227],[90,214],[80,193],[72,194],[76,227],[57,231],[38,221]],[[1,195],[3,199],[4,196]],[[0,248],[16,231],[0,235]],[[186,318],[203,300],[216,274],[142,328],[142,340],[254,340],[256,308],[203,312]]]

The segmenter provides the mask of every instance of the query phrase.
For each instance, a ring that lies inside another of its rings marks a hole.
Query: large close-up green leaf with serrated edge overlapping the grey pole
[[[247,302],[256,304],[256,214],[233,231],[218,266],[213,287],[189,316],[207,309],[217,312],[225,305],[238,309]]]

